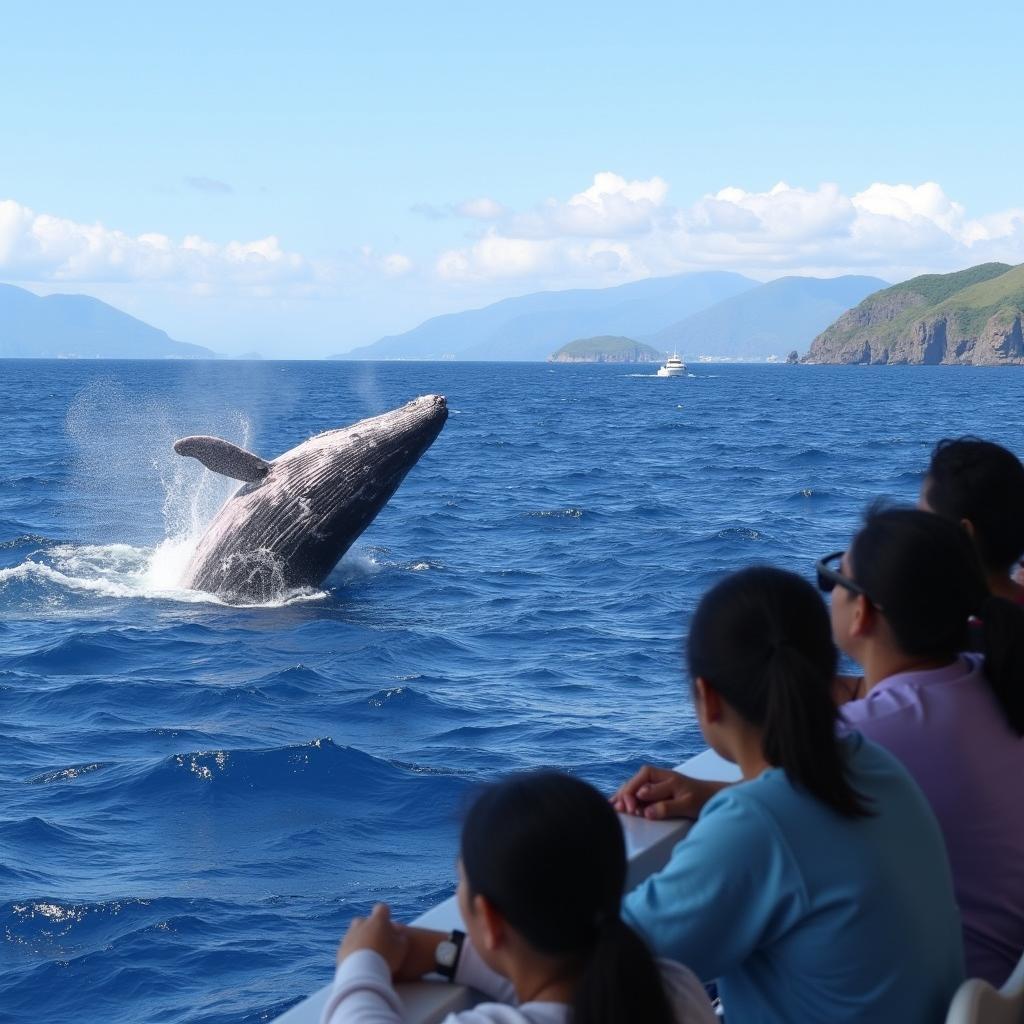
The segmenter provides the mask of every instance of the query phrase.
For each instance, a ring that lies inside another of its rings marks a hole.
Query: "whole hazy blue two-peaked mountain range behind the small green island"
[[[337,358],[548,359],[572,339],[590,336],[637,338],[693,358],[784,356],[805,351],[840,313],[885,284],[844,276],[761,285],[738,273],[705,271],[538,292],[435,316]]]

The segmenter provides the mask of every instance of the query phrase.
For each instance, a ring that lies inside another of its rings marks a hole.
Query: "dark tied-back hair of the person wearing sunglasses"
[[[980,649],[1007,719],[1024,734],[1024,610],[989,593],[963,529],[918,509],[872,508],[853,539],[850,568],[885,609],[904,653],[951,660]]]

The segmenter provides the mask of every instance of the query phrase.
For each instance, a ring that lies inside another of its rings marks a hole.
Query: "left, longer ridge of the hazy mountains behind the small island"
[[[547,359],[573,338],[649,335],[757,287],[738,273],[648,278],[615,288],[536,292],[482,309],[447,313],[341,359]]]

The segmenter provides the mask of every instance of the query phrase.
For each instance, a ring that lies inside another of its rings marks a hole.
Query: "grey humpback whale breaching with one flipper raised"
[[[242,480],[204,534],[181,585],[232,603],[317,587],[433,443],[447,404],[430,394],[328,430],[266,462],[219,437],[183,437],[179,455]]]

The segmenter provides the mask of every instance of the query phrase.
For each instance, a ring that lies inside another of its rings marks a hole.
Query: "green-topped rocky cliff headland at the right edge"
[[[814,339],[810,362],[1024,365],[1024,264],[982,263],[883,289]]]

